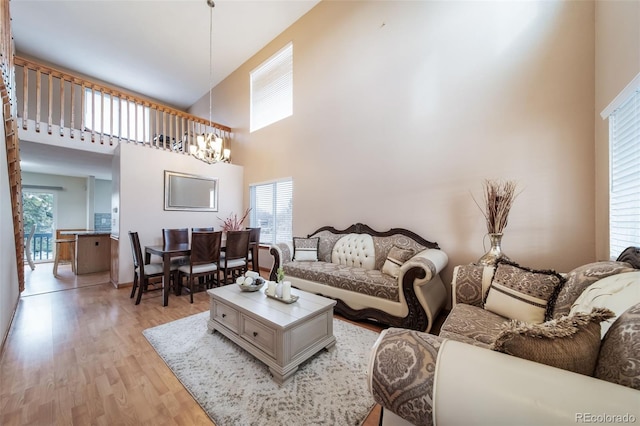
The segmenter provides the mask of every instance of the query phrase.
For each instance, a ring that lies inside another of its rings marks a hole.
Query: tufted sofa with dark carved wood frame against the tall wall
[[[378,232],[363,224],[344,230],[323,227],[317,261],[294,259],[293,243],[273,245],[270,279],[282,267],[292,286],[337,300],[335,311],[353,320],[428,331],[446,302],[440,271],[447,255],[436,243],[402,228]],[[414,253],[398,266],[397,277],[383,273],[393,247]]]

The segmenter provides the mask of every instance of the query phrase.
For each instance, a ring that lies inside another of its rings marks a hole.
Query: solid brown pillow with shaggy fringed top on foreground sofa
[[[593,375],[600,351],[600,322],[614,317],[606,308],[542,324],[512,320],[502,326],[491,349],[552,367]]]

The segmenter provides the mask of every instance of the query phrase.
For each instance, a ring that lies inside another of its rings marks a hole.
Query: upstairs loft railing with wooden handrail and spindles
[[[102,145],[122,141],[188,153],[196,136],[231,129],[84,78],[15,57],[19,125]]]

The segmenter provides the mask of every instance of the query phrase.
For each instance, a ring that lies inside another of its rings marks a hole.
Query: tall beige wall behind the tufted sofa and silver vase
[[[503,249],[531,267],[594,260],[594,3],[323,1],[215,87],[248,185],[294,181],[293,231],[363,222],[484,253],[471,194],[522,193]],[[249,133],[249,72],[293,41],[293,116]],[[192,112],[204,114],[205,94]]]

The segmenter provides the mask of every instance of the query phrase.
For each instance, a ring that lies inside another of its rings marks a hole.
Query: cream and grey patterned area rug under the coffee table
[[[367,363],[378,333],[334,319],[336,345],[282,386],[265,364],[220,333],[209,312],[143,331],[217,426],[360,425],[374,406]]]

